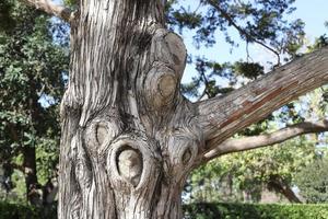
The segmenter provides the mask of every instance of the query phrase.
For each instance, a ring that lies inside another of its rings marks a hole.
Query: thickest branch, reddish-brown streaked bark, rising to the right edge
[[[206,151],[327,82],[328,47],[297,58],[223,97],[196,103]]]

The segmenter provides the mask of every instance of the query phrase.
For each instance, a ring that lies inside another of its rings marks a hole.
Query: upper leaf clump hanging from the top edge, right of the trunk
[[[301,20],[288,22],[284,15],[292,13],[294,0],[281,1],[213,1],[221,9],[211,7],[209,1],[200,1],[195,9],[186,1],[169,1],[168,23],[180,32],[192,30],[195,44],[212,46],[216,31],[225,35],[231,45],[237,46],[231,36],[232,21],[238,26],[241,37],[247,43],[270,42],[270,45],[283,51],[291,44],[296,44],[304,36],[304,23]]]

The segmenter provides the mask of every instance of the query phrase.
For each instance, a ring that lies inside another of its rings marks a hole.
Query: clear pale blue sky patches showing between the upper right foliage
[[[190,4],[191,8],[197,7],[195,0],[184,0],[185,5]],[[301,19],[305,22],[305,33],[306,38],[309,43],[313,43],[315,37],[318,37],[325,33],[328,34],[328,28],[325,27],[325,21],[328,21],[328,0],[296,0],[293,4],[296,8],[289,16],[285,16],[289,20]],[[235,36],[234,39],[239,39],[236,31],[232,31],[231,35]],[[196,49],[192,45],[192,34],[190,32],[184,32],[183,34],[184,42],[186,44],[187,50],[192,56],[204,56],[210,60],[215,60],[219,62],[226,61],[236,61],[246,57],[246,45],[243,42],[239,43],[238,48],[234,48],[231,53],[231,46],[225,43],[223,36],[216,34],[216,44],[211,48],[201,48],[200,50]],[[270,51],[263,49],[259,45],[250,45],[249,53],[254,61],[258,61],[261,65],[266,65],[267,61],[274,61],[274,55]],[[195,67],[188,65],[185,70],[183,78],[183,83],[186,83],[191,80],[191,77],[195,76]]]

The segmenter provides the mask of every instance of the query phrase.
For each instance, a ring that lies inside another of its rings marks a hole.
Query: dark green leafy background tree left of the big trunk
[[[67,41],[60,33],[65,26],[56,27],[44,12],[15,0],[1,1],[0,11],[0,164],[4,185],[8,192],[12,188],[15,171],[25,180],[27,200],[42,205],[57,176],[57,103],[68,69]]]

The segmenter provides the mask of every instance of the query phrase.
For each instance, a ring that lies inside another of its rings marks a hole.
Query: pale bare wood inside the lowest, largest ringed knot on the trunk
[[[129,146],[117,154],[118,173],[133,186],[137,186],[142,173],[142,155]]]

